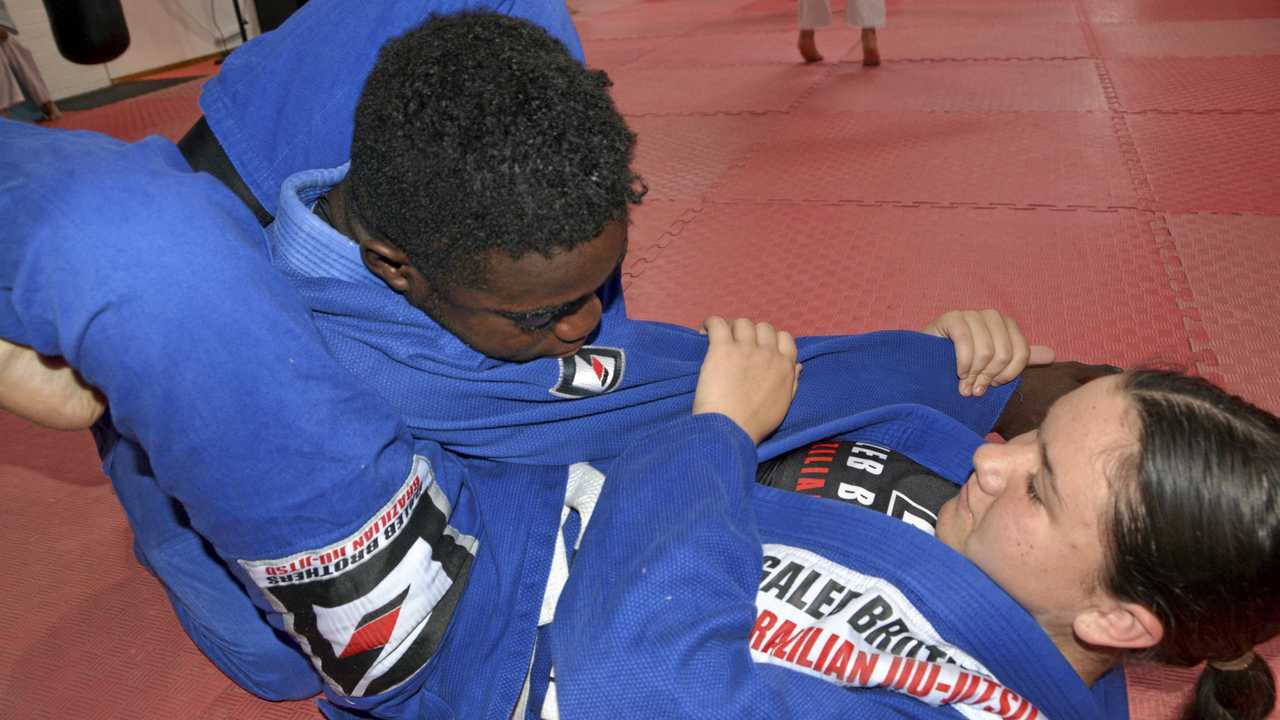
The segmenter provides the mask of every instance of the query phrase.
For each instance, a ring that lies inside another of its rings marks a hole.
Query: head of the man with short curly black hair
[[[485,355],[575,351],[643,196],[608,86],[538,26],[493,13],[388,42],[348,176],[370,270]]]

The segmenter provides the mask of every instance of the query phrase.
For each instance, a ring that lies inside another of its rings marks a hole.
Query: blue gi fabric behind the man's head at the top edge
[[[246,184],[275,215],[284,178],[351,156],[356,102],[383,44],[433,14],[475,9],[536,23],[582,60],[561,0],[311,0],[232,53],[205,85],[200,108]]]

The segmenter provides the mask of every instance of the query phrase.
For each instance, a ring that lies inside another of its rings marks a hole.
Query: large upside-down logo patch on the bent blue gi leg
[[[404,484],[335,543],[241,566],[335,691],[378,694],[435,652],[466,588],[476,538],[449,525],[449,498],[415,457]]]

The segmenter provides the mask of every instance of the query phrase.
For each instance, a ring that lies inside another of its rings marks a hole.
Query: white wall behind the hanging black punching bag
[[[239,45],[230,0],[122,0],[129,24],[129,49],[101,65],[63,59],[54,44],[41,0],[5,0],[18,40],[31,50],[54,97],[68,97],[111,85],[111,78],[182,63]],[[241,0],[246,31],[257,35],[252,0]]]

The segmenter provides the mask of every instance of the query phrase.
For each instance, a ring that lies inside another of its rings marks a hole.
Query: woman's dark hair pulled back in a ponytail
[[[1213,662],[1280,632],[1280,419],[1179,373],[1135,370],[1121,383],[1140,428],[1103,585],[1164,623],[1147,659],[1210,661],[1187,717],[1261,720],[1276,694],[1266,661]]]

